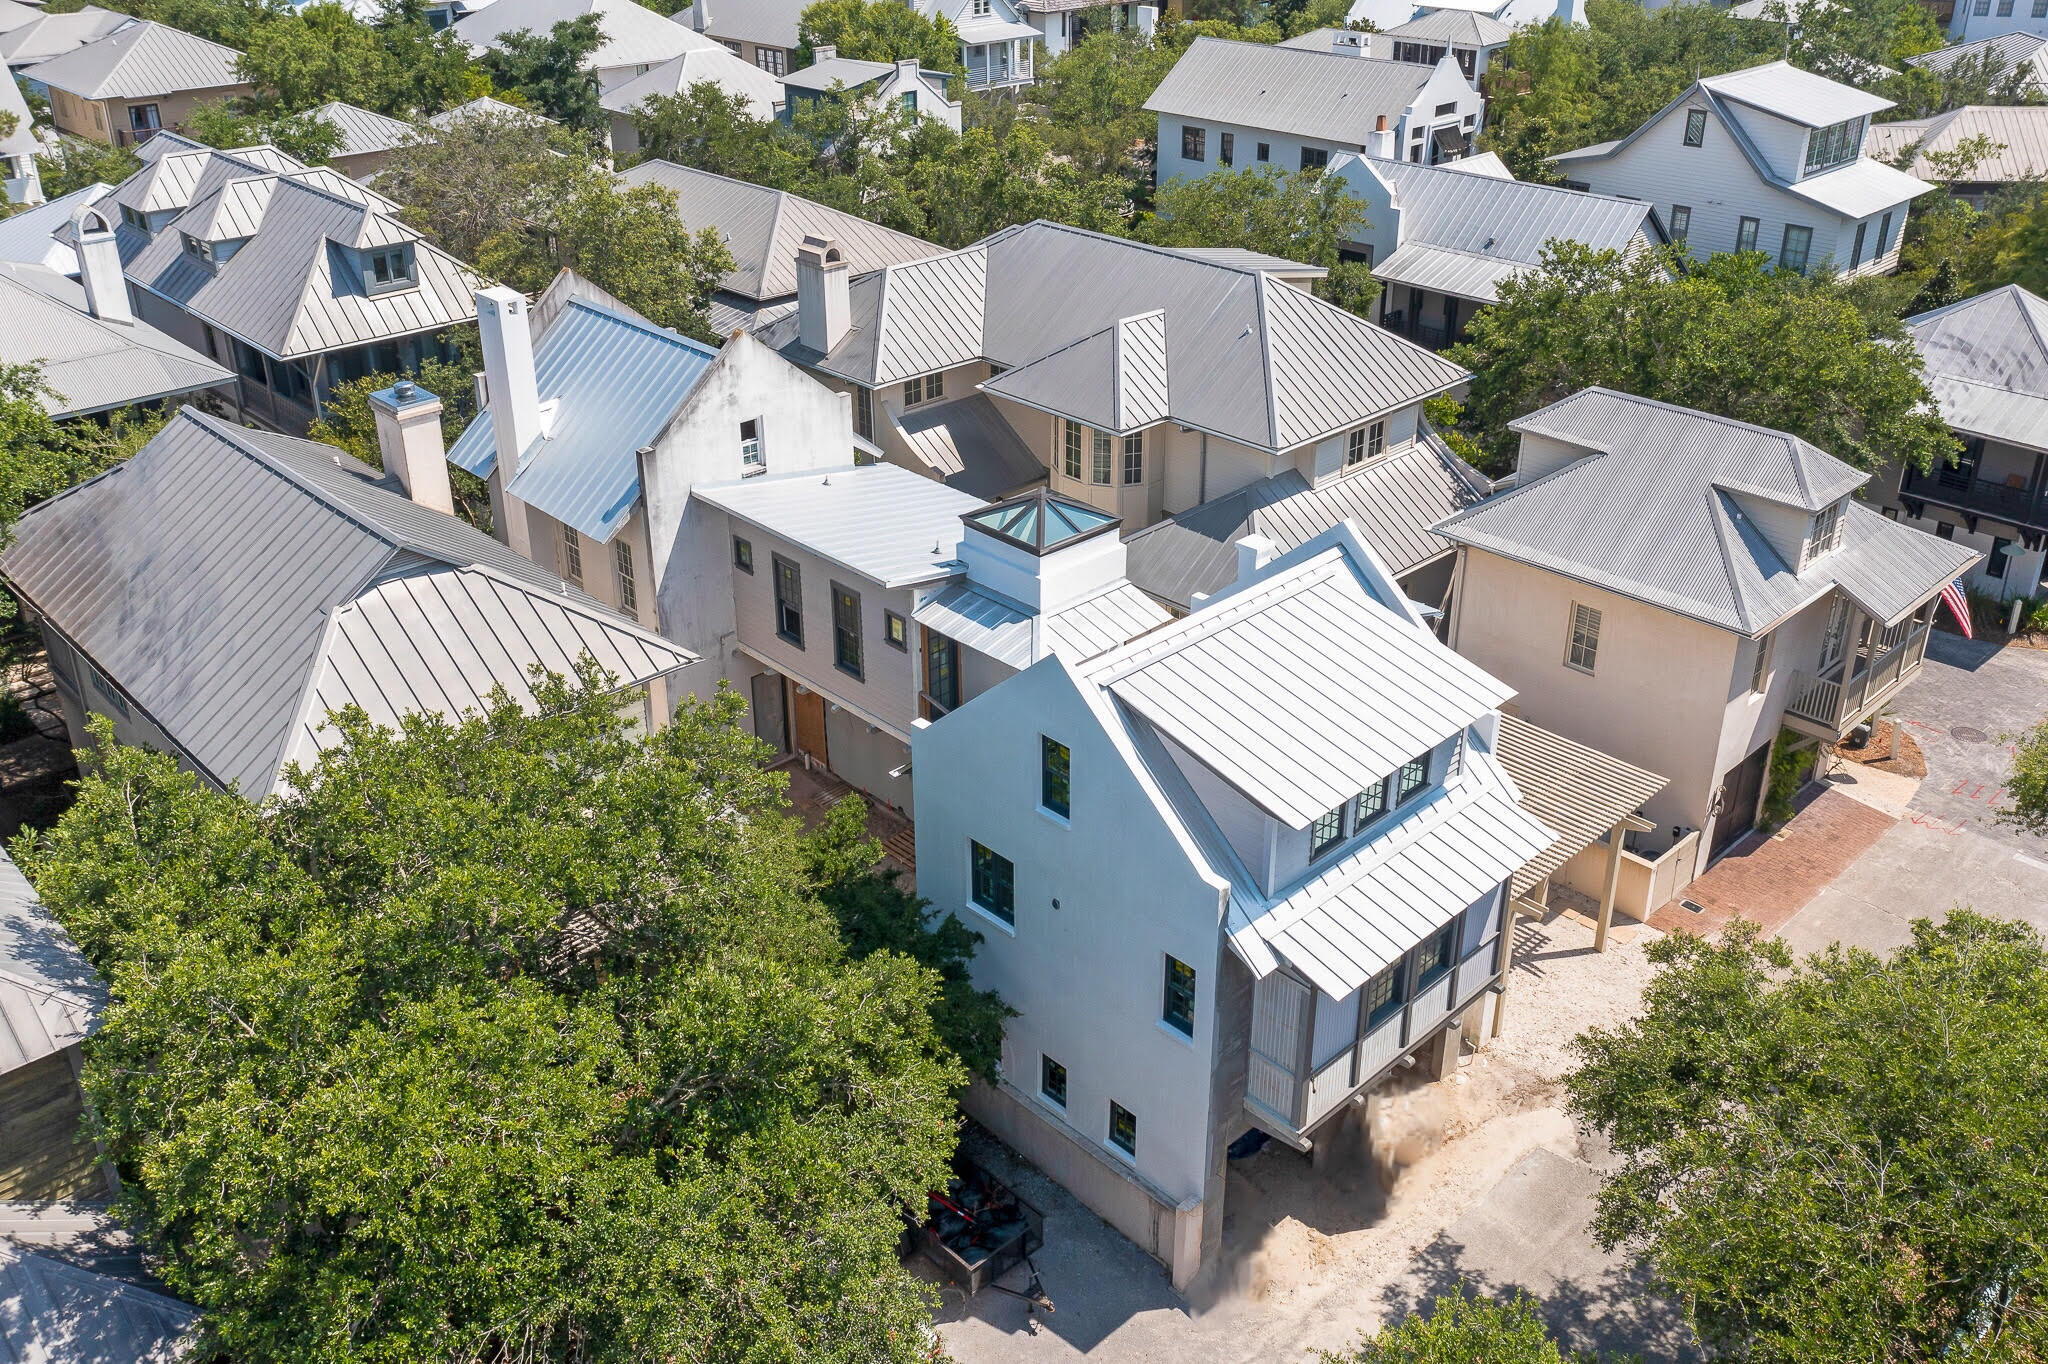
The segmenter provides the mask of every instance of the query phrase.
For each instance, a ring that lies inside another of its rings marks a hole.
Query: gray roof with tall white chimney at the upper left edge
[[[78,279],[0,262],[0,365],[35,365],[49,416],[80,418],[225,387],[236,377],[135,317],[121,248],[100,209],[72,217]]]

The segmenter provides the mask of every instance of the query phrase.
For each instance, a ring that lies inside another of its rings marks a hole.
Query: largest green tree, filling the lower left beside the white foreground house
[[[238,1360],[922,1360],[901,1208],[963,1071],[848,954],[731,692],[639,741],[336,717],[264,807],[102,727],[25,846],[113,979],[125,1212]]]

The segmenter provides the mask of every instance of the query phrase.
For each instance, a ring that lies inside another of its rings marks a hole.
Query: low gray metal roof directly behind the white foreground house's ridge
[[[1350,520],[1380,563],[1401,576],[1448,553],[1450,541],[1432,526],[1485,496],[1485,479],[1434,440],[1321,487],[1288,469],[1145,526],[1124,541],[1128,573],[1159,600],[1186,608],[1196,594],[1235,582],[1237,541],[1247,535],[1264,535],[1284,553]]]

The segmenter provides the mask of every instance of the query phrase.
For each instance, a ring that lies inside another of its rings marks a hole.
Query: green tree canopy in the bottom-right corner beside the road
[[[1966,909],[1878,958],[1747,922],[1651,944],[1640,1018],[1575,1047],[1622,1165],[1595,1231],[1755,1364],[2048,1348],[2048,948]]]

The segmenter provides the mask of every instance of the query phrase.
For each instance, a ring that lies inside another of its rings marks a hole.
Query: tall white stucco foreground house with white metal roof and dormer
[[[1225,1153],[1343,1141],[1489,1022],[1509,879],[1554,842],[1495,756],[1513,692],[1350,526],[918,725],[918,893],[1018,1010],[965,1106],[1161,1260],[1217,1260]],[[1350,1137],[1358,1141],[1358,1137]]]

